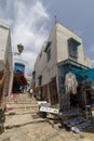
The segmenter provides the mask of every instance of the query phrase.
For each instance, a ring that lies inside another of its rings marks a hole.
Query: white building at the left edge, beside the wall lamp
[[[13,81],[11,31],[8,24],[0,22],[0,64],[5,66],[4,94],[10,95]]]

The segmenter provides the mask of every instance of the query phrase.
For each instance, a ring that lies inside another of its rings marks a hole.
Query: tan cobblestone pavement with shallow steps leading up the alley
[[[94,126],[84,132],[73,133],[61,128],[59,123],[40,118],[37,101],[27,93],[10,98],[6,107],[0,141],[94,141]]]

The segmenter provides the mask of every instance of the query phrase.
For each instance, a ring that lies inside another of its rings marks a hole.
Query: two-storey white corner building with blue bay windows
[[[64,77],[71,68],[91,67],[83,53],[82,38],[59,23],[53,27],[35,63],[35,92],[52,105],[62,99]]]

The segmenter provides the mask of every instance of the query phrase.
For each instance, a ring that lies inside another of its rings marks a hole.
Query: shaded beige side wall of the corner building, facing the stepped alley
[[[36,86],[38,86],[38,77],[42,75],[42,85],[48,84],[51,81],[51,78],[56,75],[56,28],[53,27],[51,35],[48,39],[48,41],[51,41],[51,60],[46,61],[46,53],[44,52],[45,44],[43,44],[36,64],[35,64],[35,70],[36,70]],[[48,42],[46,41],[46,42]],[[41,57],[40,54],[42,53]]]

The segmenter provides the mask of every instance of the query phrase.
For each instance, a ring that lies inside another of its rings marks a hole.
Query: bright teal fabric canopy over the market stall
[[[76,75],[78,81],[82,81],[84,76],[88,76],[90,81],[94,81],[94,68],[73,69],[71,73]]]

